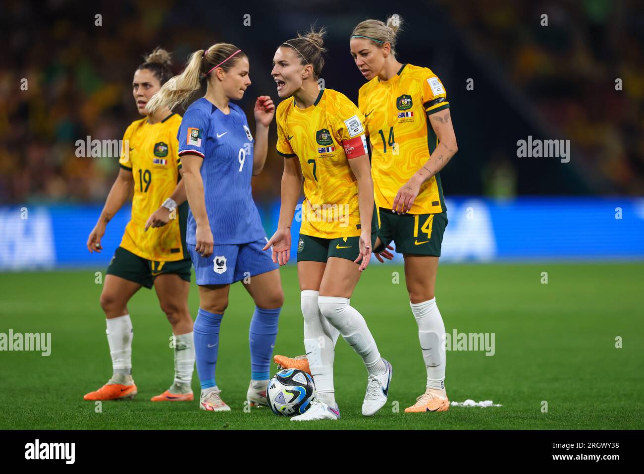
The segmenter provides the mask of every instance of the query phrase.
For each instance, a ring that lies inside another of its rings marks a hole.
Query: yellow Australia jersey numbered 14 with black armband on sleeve
[[[429,115],[449,108],[440,79],[428,68],[403,64],[388,81],[374,77],[360,88],[358,106],[365,115],[372,148],[371,168],[377,206],[391,209],[403,185],[436,149],[438,138]],[[440,173],[421,185],[410,214],[444,212]]]

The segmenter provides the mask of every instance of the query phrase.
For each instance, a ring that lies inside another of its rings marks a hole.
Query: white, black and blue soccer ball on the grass
[[[298,369],[280,370],[269,380],[266,390],[270,410],[283,417],[307,411],[315,393],[313,377]]]

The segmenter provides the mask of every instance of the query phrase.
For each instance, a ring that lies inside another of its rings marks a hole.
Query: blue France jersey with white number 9
[[[230,104],[226,115],[204,97],[185,111],[177,135],[179,155],[204,157],[205,208],[214,244],[245,244],[265,237],[252,199],[254,139],[246,115]],[[188,213],[186,242],[196,244],[196,222]]]

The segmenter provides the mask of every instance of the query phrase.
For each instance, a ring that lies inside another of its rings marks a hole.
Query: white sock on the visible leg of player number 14
[[[410,302],[410,306],[418,324],[418,339],[427,368],[427,388],[442,390],[445,388],[445,324],[436,306],[436,298],[421,303]]]

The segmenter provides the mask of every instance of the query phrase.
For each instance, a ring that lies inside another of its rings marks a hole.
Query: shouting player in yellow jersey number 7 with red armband
[[[302,182],[305,193],[298,277],[304,346],[317,395],[292,420],[340,418],[333,386],[338,333],[368,371],[363,415],[373,415],[386,403],[392,378],[392,366],[380,357],[365,319],[349,305],[377,233],[374,188],[363,114],[345,95],[317,85],[324,65],[323,34],[312,30],[282,43],[271,73],[285,99],[277,110],[284,173],[278,230],[265,248],[273,246],[273,260],[281,265],[289,261],[290,226]]]

